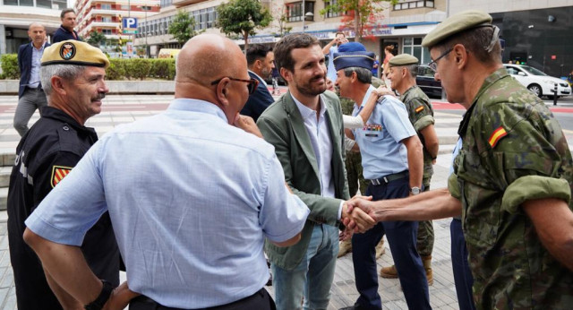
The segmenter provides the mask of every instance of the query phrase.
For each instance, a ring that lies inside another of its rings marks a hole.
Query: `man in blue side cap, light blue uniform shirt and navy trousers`
[[[372,86],[373,59],[373,53],[363,51],[334,56],[340,96],[356,102],[353,116],[372,100],[379,100],[367,125],[354,130],[362,154],[363,176],[370,182],[366,195],[372,195],[377,201],[420,194],[422,143],[408,120],[404,104],[391,96],[381,97]],[[417,228],[415,221],[386,222],[352,237],[352,260],[360,297],[354,306],[345,309],[381,309],[374,246],[384,235],[388,238],[408,307],[431,308],[428,282],[415,250]]]

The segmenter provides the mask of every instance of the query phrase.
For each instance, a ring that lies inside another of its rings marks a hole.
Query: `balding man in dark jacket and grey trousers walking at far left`
[[[39,82],[40,59],[46,42],[46,29],[38,22],[28,28],[31,43],[18,48],[18,66],[20,67],[20,89],[18,90],[18,107],[14,113],[14,128],[23,136],[28,132],[28,122],[36,109],[47,106],[47,99],[42,84]]]

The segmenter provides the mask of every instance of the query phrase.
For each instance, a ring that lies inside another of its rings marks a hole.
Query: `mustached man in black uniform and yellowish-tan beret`
[[[109,61],[87,43],[64,41],[47,47],[41,65],[48,105],[18,144],[8,192],[8,238],[19,309],[82,306],[47,280],[22,234],[24,220],[98,141],[93,128],[84,124],[101,111],[108,91],[104,77]],[[107,212],[90,229],[81,249],[92,271],[116,286],[119,252]]]

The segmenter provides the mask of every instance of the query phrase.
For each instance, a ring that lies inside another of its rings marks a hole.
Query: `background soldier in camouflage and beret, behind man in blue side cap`
[[[433,163],[438,156],[438,136],[433,127],[433,109],[430,99],[416,85],[415,76],[418,72],[418,58],[408,54],[400,54],[389,61],[388,79],[392,82],[392,89],[400,93],[400,101],[406,105],[408,118],[414,125],[415,132],[423,145],[423,191],[430,190],[430,180],[433,174]],[[428,284],[433,284],[432,249],[433,226],[432,220],[423,220],[418,223],[418,237],[416,242],[418,254],[422,257],[423,268],[426,271]],[[380,271],[382,278],[398,278],[396,266],[383,267]]]

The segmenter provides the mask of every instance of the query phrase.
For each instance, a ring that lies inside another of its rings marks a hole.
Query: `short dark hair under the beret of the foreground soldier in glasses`
[[[468,51],[472,52],[475,58],[481,63],[493,65],[501,63],[501,46],[499,39],[495,42],[491,52],[486,50],[486,47],[492,42],[493,35],[492,27],[473,28],[457,33],[448,39],[444,39],[435,46],[430,47],[430,49],[438,48],[438,50],[443,53],[456,44],[461,44],[466,47]]]

